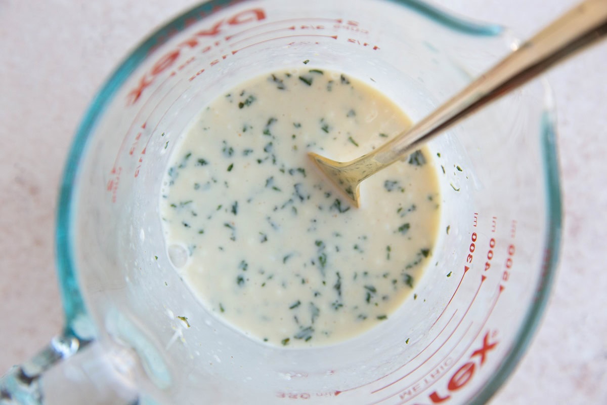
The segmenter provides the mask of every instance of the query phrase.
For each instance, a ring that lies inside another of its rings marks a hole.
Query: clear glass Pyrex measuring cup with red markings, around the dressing
[[[501,27],[417,1],[285,3],[192,9],[101,89],[61,188],[66,327],[2,379],[0,403],[484,403],[512,370],[544,305],[560,233],[540,83],[430,143],[443,209],[433,262],[415,295],[370,332],[317,349],[263,345],[206,311],[172,268],[161,179],[183,129],[224,90],[310,60],[368,81],[416,120],[516,46]]]

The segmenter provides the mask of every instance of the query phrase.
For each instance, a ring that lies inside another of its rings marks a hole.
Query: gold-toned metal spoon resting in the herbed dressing
[[[409,154],[413,148],[418,148],[466,115],[516,89],[575,51],[598,42],[605,35],[607,0],[586,0],[523,43],[411,129],[373,152],[350,162],[336,162],[313,152],[310,152],[310,158],[358,207],[359,185],[367,177]]]

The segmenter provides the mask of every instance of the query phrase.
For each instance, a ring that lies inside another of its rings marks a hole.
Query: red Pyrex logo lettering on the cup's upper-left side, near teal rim
[[[245,10],[236,13],[229,18],[220,19],[209,29],[203,29],[196,32],[191,38],[186,39],[182,43],[178,44],[174,50],[164,54],[156,61],[154,66],[152,66],[152,69],[141,77],[137,87],[129,92],[127,103],[131,105],[137,103],[137,100],[139,100],[141,94],[143,94],[143,90],[154,83],[155,78],[157,78],[160,73],[173,66],[184,49],[194,49],[198,47],[200,45],[200,39],[213,38],[222,33],[222,30],[228,26],[239,26],[240,24],[246,24],[247,22],[251,21],[261,21],[265,18],[265,12],[262,9]],[[212,46],[206,46],[201,50],[201,52],[208,52],[211,49]]]

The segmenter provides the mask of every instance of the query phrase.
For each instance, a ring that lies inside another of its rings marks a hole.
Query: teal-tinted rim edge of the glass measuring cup
[[[175,33],[180,32],[192,23],[208,18],[220,10],[235,4],[251,0],[211,0],[198,4],[181,13],[171,21],[154,30],[147,38],[124,58],[118,67],[106,79],[103,86],[97,91],[84,114],[80,125],[76,129],[72,146],[69,149],[64,165],[62,180],[59,186],[58,205],[56,211],[55,252],[56,268],[58,272],[61,301],[64,307],[64,335],[73,336],[83,342],[95,339],[94,327],[91,327],[90,316],[78,286],[78,276],[73,254],[72,239],[74,230],[73,211],[75,207],[74,185],[77,181],[81,158],[86,151],[88,140],[103,113],[117,93],[122,84],[131,76],[152,52],[155,47],[166,43]],[[434,5],[421,0],[375,0],[388,1],[393,4],[407,7],[421,16],[432,19],[439,24],[457,32],[472,36],[500,36],[507,30],[498,24],[472,21],[455,16]],[[550,98],[549,89],[547,96]],[[541,128],[541,146],[543,149],[543,166],[546,185],[546,212],[547,229],[543,273],[538,282],[535,300],[530,305],[520,324],[520,330],[514,340],[512,349],[503,358],[501,365],[490,377],[489,381],[469,398],[470,404],[484,404],[502,386],[510,376],[515,366],[526,352],[535,330],[540,322],[541,315],[548,302],[552,282],[554,281],[558,253],[561,240],[562,201],[560,191],[557,146],[555,140],[555,120],[551,103],[544,110]],[[82,327],[83,324],[89,325]]]

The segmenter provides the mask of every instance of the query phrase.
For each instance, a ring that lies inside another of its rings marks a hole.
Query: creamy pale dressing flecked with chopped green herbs
[[[358,209],[307,152],[350,160],[409,126],[362,81],[309,67],[220,95],[183,134],[161,190],[185,282],[268,344],[332,344],[386,322],[432,258],[440,199],[430,152],[365,180]]]

